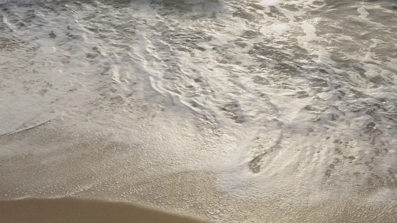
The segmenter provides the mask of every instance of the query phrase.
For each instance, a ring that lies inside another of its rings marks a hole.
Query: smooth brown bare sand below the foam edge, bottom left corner
[[[78,198],[0,201],[0,223],[204,223],[131,203]]]

